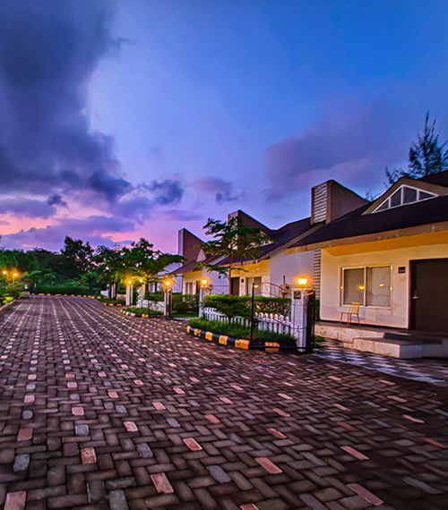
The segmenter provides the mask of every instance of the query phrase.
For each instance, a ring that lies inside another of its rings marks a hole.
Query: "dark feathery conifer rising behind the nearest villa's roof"
[[[385,172],[390,184],[396,183],[401,177],[418,179],[448,170],[448,149],[445,149],[447,142],[439,145],[439,135],[435,134],[435,121],[436,119],[430,123],[429,113],[426,114],[423,136],[418,134],[418,141],[413,142],[409,148],[407,170],[389,170],[386,166]]]

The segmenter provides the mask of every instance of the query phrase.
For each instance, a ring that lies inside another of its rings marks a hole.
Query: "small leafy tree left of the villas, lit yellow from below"
[[[130,248],[124,248],[123,258],[128,277],[134,280],[142,280],[145,293],[149,291],[149,285],[159,282],[161,273],[168,266],[185,260],[182,255],[173,255],[154,251],[154,245],[143,237],[138,242],[133,242]]]

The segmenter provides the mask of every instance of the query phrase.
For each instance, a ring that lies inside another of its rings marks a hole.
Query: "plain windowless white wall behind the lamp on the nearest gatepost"
[[[314,251],[303,251],[301,253],[291,253],[286,255],[284,252],[275,255],[271,259],[271,283],[281,285],[283,276],[286,277],[288,285],[297,285],[298,276],[306,276],[313,282],[314,272]]]

